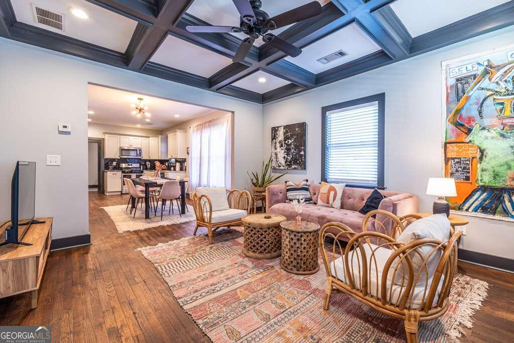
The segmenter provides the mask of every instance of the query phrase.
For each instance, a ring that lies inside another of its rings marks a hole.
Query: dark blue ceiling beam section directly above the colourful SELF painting
[[[462,42],[511,25],[514,25],[514,1],[414,37],[410,47],[410,56]]]

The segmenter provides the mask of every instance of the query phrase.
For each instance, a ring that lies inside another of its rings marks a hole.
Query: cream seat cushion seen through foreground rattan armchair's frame
[[[366,261],[368,262],[368,293],[374,296],[377,299],[380,299],[381,287],[382,287],[382,272],[383,267],[386,264],[387,260],[391,256],[391,249],[384,247],[377,247],[374,244],[363,244],[364,253],[366,255]],[[375,252],[375,258],[372,258],[372,253]],[[352,258],[353,255],[353,258]],[[362,277],[362,257],[360,254],[360,250],[356,249],[355,254],[350,252],[348,256],[348,262],[353,264],[353,276],[348,276],[343,267],[343,258],[339,257],[336,260],[330,262],[330,270],[333,277],[343,281],[346,284],[349,284],[348,280],[355,280],[355,287],[360,290],[360,277]],[[375,267],[376,260],[376,267]],[[370,268],[371,266],[371,268]],[[371,272],[371,273],[370,273]],[[392,273],[392,272],[390,272]],[[371,274],[371,275],[370,275]],[[425,281],[425,280],[424,280]],[[414,288],[414,293],[412,295],[412,299],[409,298],[406,303],[406,307],[410,309],[419,309],[423,307],[425,301],[427,300],[427,296],[429,293],[429,287],[431,285],[431,280],[428,282],[427,290],[425,292],[425,282],[423,285],[418,285]],[[433,304],[435,304],[439,298],[439,293],[441,287],[443,286],[444,278],[441,278],[439,285],[437,287],[437,291],[434,297]],[[392,287],[392,290],[391,290]],[[390,296],[391,292],[391,296]],[[387,281],[387,301],[392,304],[398,304],[400,299],[399,297],[405,293],[405,285],[402,287],[401,285],[394,284],[390,280]]]

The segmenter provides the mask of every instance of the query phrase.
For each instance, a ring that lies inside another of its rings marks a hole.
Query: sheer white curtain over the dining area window
[[[231,188],[231,116],[194,125],[190,140],[190,181],[196,187]]]

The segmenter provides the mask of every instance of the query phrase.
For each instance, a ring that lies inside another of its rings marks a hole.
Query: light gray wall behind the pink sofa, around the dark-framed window
[[[425,55],[319,87],[264,106],[263,156],[270,154],[271,127],[307,122],[307,168],[285,179],[321,178],[321,107],[386,93],[386,186],[419,196],[421,211],[431,211],[427,179],[442,173],[441,62],[512,43],[514,28],[439,49]],[[467,217],[465,249],[514,258],[514,223]]]

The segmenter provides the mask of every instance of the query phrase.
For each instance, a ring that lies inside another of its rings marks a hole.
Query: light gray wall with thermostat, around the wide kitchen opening
[[[4,101],[0,159],[0,219],[9,219],[10,178],[16,160],[37,163],[38,216],[53,216],[53,238],[88,232],[87,83],[186,101],[234,112],[235,186],[262,156],[262,106],[132,71],[0,38],[0,94]],[[59,135],[59,122],[71,135]],[[45,166],[61,155],[60,167]],[[258,156],[259,158],[255,158]]]

